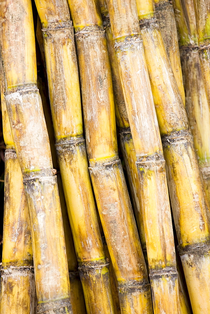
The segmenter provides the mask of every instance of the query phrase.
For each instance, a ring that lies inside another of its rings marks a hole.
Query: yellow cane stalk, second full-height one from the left
[[[56,150],[73,232],[86,308],[114,313],[108,263],[97,222],[83,139],[80,84],[74,30],[67,2],[36,1],[56,137]]]

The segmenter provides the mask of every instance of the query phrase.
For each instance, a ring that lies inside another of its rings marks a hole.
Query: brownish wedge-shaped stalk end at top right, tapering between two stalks
[[[171,63],[171,68],[174,72],[180,95],[185,105],[185,90],[183,86],[176,22],[172,5],[173,2],[174,0],[154,0],[156,8],[155,14],[158,19],[161,33],[163,35],[163,41],[165,43],[165,48],[169,57],[169,61]],[[146,0],[144,4],[145,8],[147,7],[147,3],[149,3],[150,9],[147,10],[146,14],[149,14],[151,16],[151,14],[153,14],[153,5],[150,0]],[[142,10],[144,10],[143,7]],[[142,13],[144,14],[144,12]],[[146,15],[144,16],[144,18],[147,19]]]

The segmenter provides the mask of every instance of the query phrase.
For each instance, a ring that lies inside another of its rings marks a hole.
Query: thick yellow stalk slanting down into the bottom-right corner
[[[139,6],[144,1],[139,1]],[[209,205],[179,89],[154,17],[139,10],[141,35],[166,160],[179,252],[195,313],[210,309]],[[148,252],[147,252],[148,253]],[[196,289],[195,289],[196,287]]]

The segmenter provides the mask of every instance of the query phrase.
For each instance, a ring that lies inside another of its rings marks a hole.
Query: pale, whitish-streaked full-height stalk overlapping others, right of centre
[[[165,161],[136,3],[108,1],[108,11],[141,182],[153,308],[155,313],[180,313]]]

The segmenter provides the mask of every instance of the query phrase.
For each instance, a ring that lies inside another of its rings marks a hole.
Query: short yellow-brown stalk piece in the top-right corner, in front
[[[201,62],[203,82],[210,108],[210,0],[193,0],[198,52]]]

